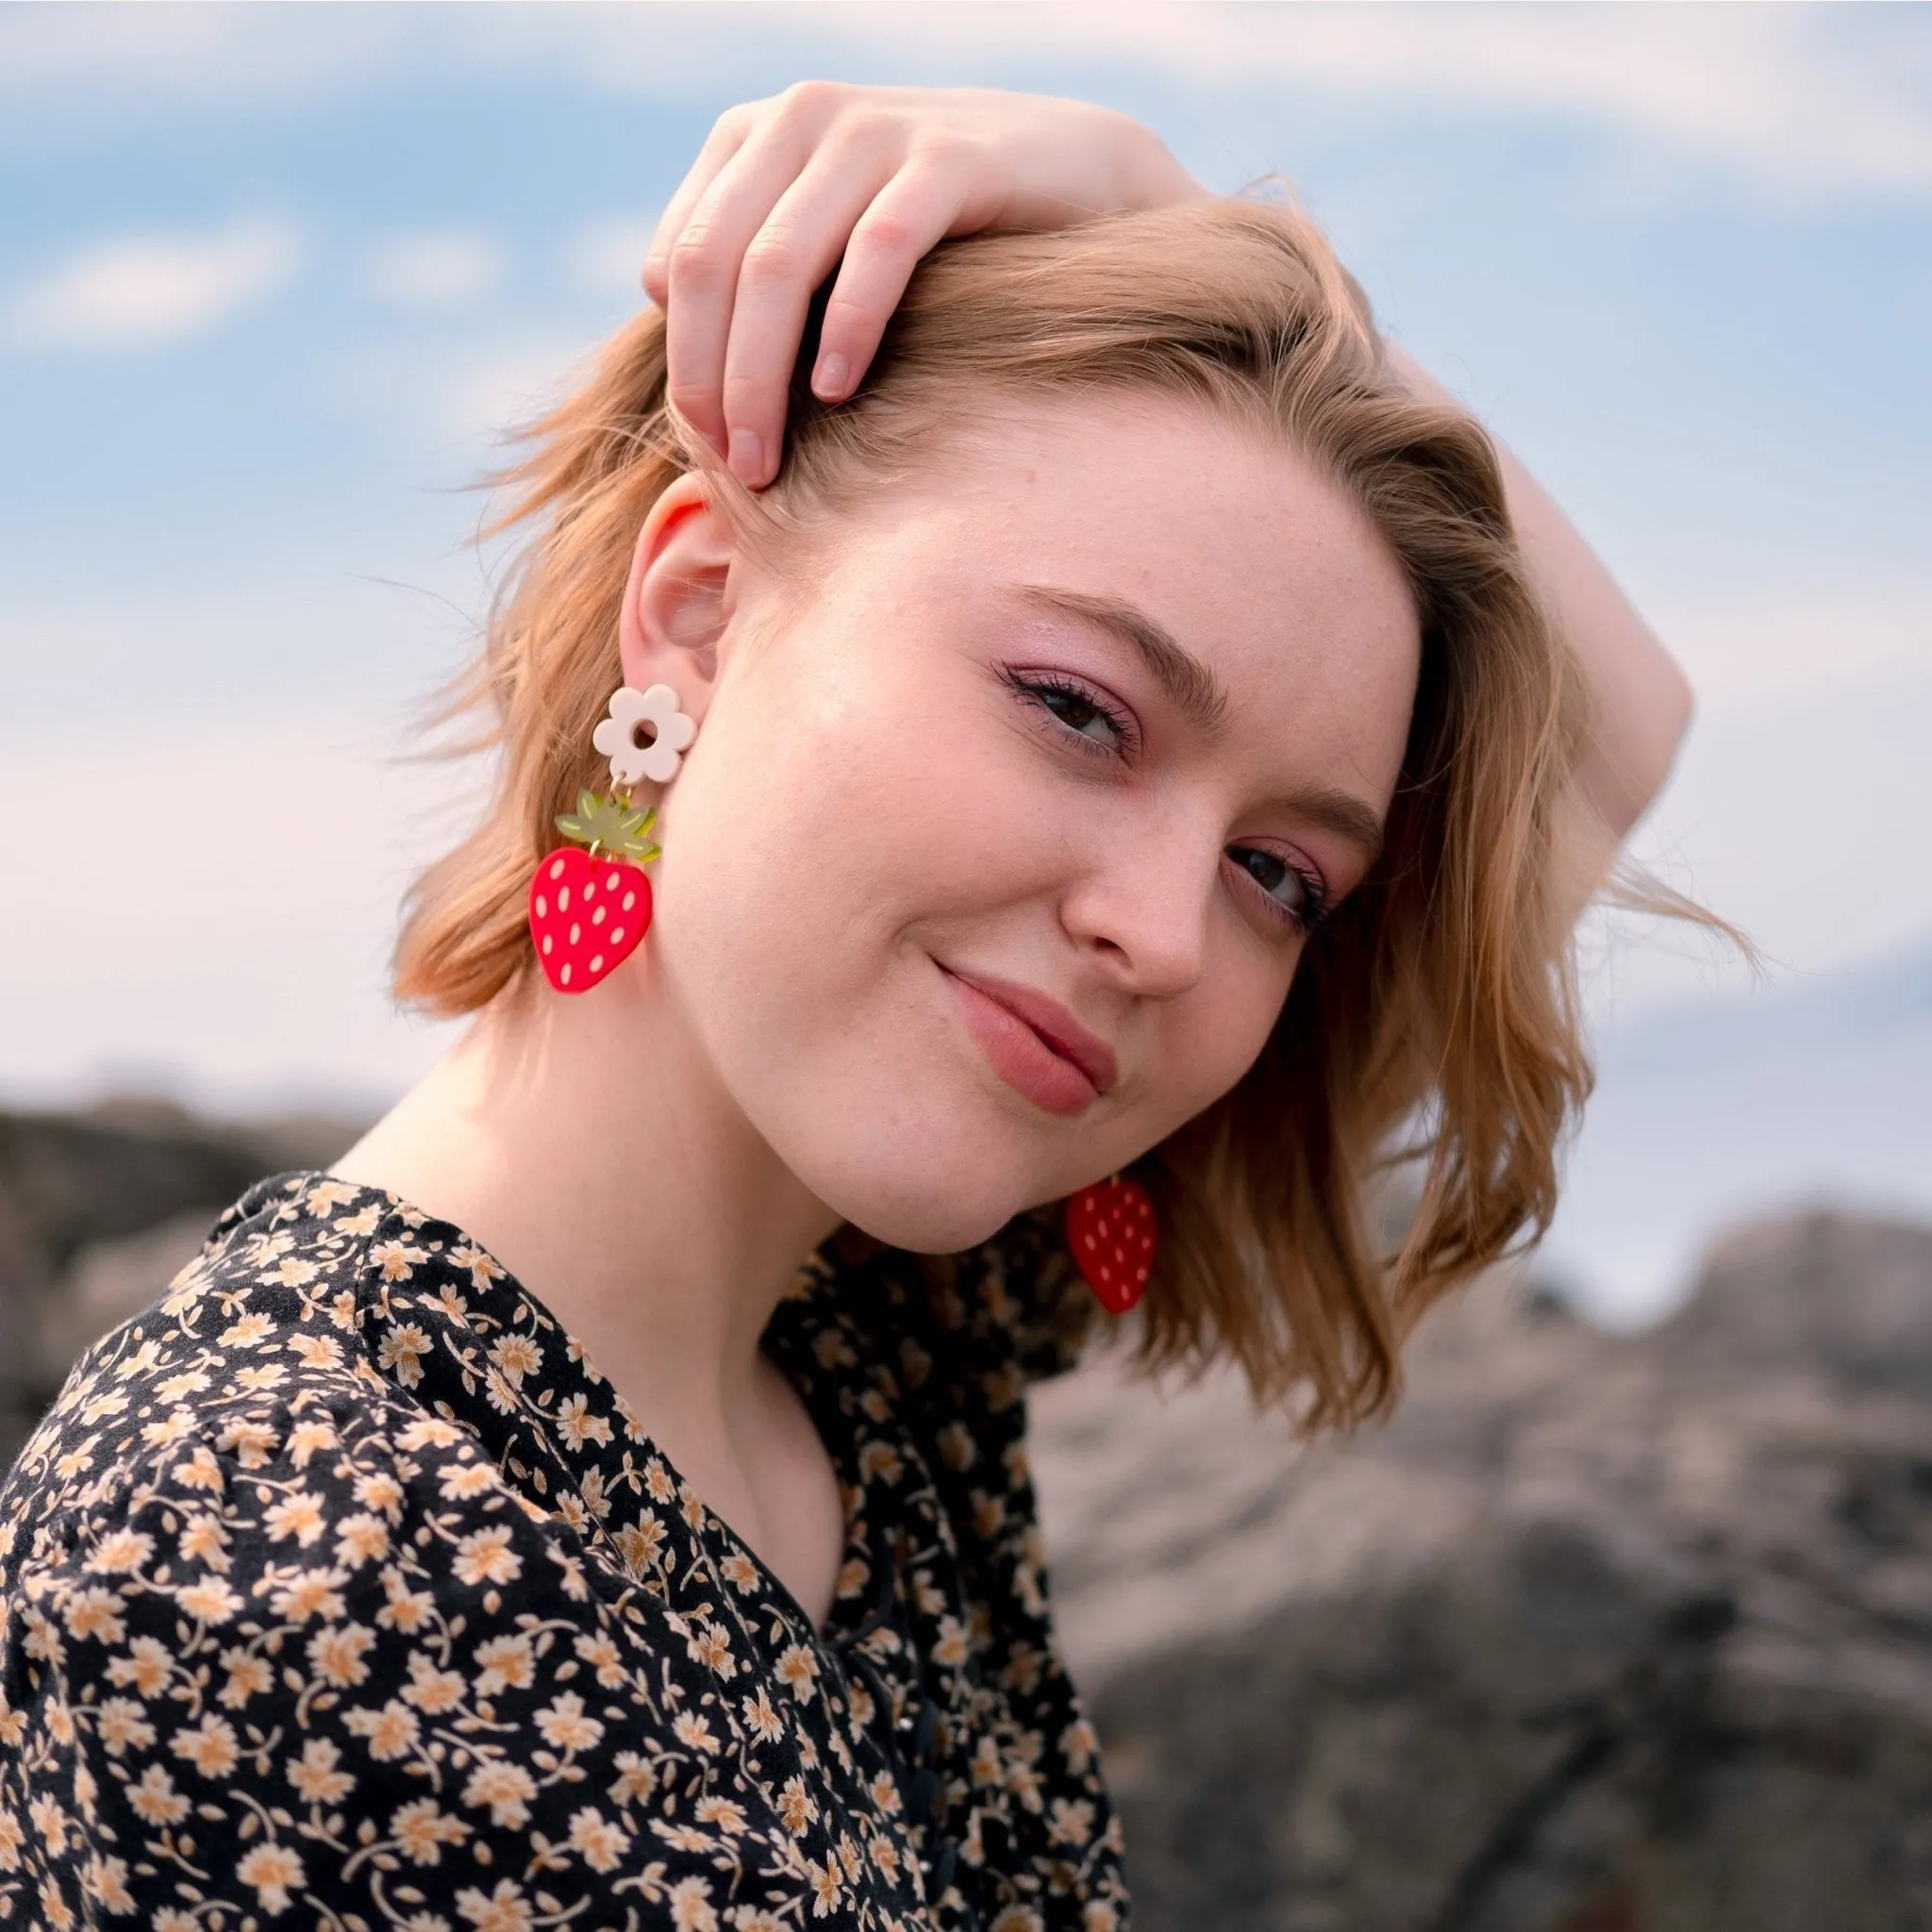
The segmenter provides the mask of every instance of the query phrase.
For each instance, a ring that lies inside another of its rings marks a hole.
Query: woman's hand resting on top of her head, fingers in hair
[[[719,116],[651,240],[668,394],[761,487],[811,292],[833,265],[811,390],[858,388],[920,257],[983,228],[1066,228],[1204,189],[1138,122],[978,87],[802,81]]]

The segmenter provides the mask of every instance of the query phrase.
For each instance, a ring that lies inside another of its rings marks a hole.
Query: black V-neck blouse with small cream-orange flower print
[[[0,1490],[0,1918],[1122,1926],[1024,1449],[1086,1308],[1045,1217],[802,1273],[819,1634],[483,1248],[261,1182]]]

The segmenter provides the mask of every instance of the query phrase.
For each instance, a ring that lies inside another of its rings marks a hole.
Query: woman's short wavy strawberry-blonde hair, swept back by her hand
[[[1161,1221],[1148,1366],[1231,1354],[1306,1428],[1349,1424],[1393,1401],[1422,1310],[1555,1206],[1557,1146],[1590,1084],[1557,829],[1580,684],[1490,439],[1405,390],[1327,243],[1279,207],[939,247],[856,398],[827,408],[794,384],[784,471],[732,512],[779,543],[821,518],[835,533],[842,502],[918,466],[976,398],[1095,390],[1192,398],[1283,437],[1360,504],[1420,618],[1381,858],[1308,941],[1254,1068],[1134,1169]],[[396,951],[398,995],[440,1014],[531,972],[526,891],[554,815],[597,782],[589,736],[622,682],[638,529],[699,462],[667,406],[663,317],[620,328],[527,437],[498,527],[531,535],[460,699],[498,752],[497,790],[415,883]],[[1374,1202],[1397,1151],[1420,1163],[1420,1204],[1385,1254]]]

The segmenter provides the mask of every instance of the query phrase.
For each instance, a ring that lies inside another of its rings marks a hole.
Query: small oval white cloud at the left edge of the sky
[[[23,348],[158,348],[272,296],[299,263],[294,226],[269,216],[201,236],[120,236],[73,251],[15,290],[10,332]]]

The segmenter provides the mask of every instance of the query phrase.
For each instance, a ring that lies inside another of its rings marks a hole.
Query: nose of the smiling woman
[[[1200,983],[1221,848],[1180,827],[1109,842],[1061,895],[1061,925],[1122,991],[1175,999]]]

